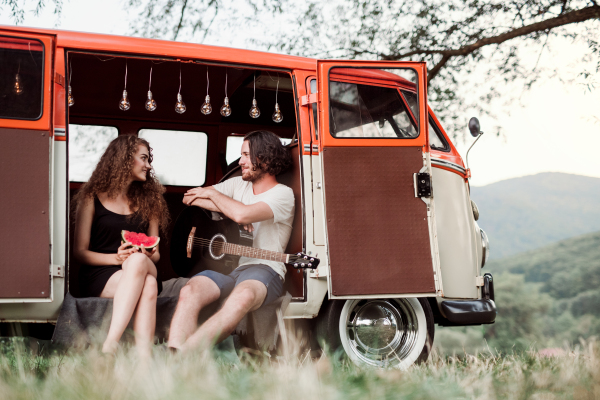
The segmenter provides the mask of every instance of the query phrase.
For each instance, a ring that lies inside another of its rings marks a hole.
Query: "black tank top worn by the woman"
[[[139,221],[136,215],[117,214],[107,210],[98,197],[94,198],[94,220],[89,250],[97,253],[116,253],[121,246],[121,231],[148,232],[148,222]]]

